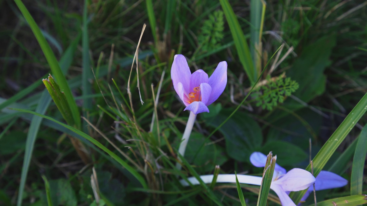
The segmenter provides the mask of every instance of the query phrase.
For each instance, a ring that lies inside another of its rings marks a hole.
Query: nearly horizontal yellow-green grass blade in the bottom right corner
[[[318,202],[317,206],[357,206],[367,203],[366,195],[352,195]],[[315,206],[315,204],[309,205]]]

